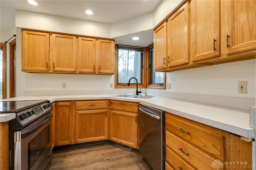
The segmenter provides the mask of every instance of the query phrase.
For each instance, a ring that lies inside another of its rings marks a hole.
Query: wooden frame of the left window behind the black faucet
[[[115,45],[115,65],[116,65],[116,74],[115,74],[115,88],[136,88],[136,84],[135,83],[131,83],[130,86],[126,85],[122,85],[121,83],[118,83],[118,44]],[[129,47],[129,45],[123,45],[123,46],[127,46]],[[134,46],[130,46],[130,47],[134,47]],[[142,54],[142,75],[141,75],[141,83],[138,84],[138,88],[146,88],[146,69],[145,69],[145,65],[146,65],[146,47],[140,47],[144,49],[144,52]]]

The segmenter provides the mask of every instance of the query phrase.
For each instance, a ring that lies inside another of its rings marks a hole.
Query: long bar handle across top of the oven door
[[[50,119],[52,119],[52,113],[50,113],[49,115],[41,118],[39,121],[37,121],[36,123],[30,125],[29,127],[25,128],[24,130],[22,130],[21,132],[21,138],[25,138],[26,136],[34,133],[36,130],[38,130],[40,127],[42,127],[44,124],[46,124],[48,121],[50,121]]]

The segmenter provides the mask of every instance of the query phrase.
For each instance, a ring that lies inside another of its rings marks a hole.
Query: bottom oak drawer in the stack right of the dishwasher
[[[170,148],[166,147],[166,161],[175,170],[194,170],[192,166],[186,163],[182,158],[176,155]]]

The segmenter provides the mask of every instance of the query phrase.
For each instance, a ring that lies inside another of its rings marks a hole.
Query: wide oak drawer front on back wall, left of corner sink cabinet
[[[76,101],[76,110],[87,110],[87,109],[107,109],[108,101]]]

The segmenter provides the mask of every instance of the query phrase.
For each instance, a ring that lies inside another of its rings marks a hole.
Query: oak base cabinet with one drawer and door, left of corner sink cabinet
[[[108,100],[75,103],[75,143],[107,140]]]

